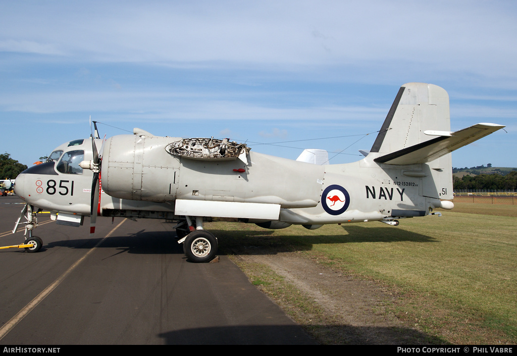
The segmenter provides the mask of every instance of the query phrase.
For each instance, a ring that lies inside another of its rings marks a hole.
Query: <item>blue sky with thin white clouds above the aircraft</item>
[[[399,87],[427,82],[449,93],[452,130],[506,125],[454,167],[517,167],[515,19],[514,1],[0,0],[0,152],[31,166],[91,116],[101,136],[352,162]]]

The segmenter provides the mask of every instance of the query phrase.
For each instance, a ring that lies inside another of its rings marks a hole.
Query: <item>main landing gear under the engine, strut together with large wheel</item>
[[[183,251],[191,262],[211,262],[217,255],[217,238],[203,229],[203,217],[196,217],[195,222],[189,216],[176,225],[178,243],[183,243]]]

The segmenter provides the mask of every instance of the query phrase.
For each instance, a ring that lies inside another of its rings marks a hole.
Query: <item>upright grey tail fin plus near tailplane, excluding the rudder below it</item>
[[[431,162],[503,128],[476,124],[450,131],[449,95],[439,86],[404,84],[370,152],[377,163],[412,165]]]

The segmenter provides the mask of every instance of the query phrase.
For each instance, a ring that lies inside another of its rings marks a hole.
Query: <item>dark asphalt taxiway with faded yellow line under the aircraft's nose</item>
[[[21,203],[0,197],[0,246],[23,243]],[[38,223],[38,253],[0,249],[0,345],[314,344],[226,256],[187,261],[174,224]]]

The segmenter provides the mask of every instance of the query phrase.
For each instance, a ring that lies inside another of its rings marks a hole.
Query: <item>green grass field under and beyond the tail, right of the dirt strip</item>
[[[479,206],[466,213],[468,206],[457,206],[462,212],[402,219],[398,227],[368,222],[264,230],[215,222],[208,228],[221,229],[216,234],[223,251],[232,245],[300,251],[333,269],[376,280],[400,295],[390,311],[447,342],[515,344],[517,218],[481,215]],[[507,209],[513,215],[515,207]]]

